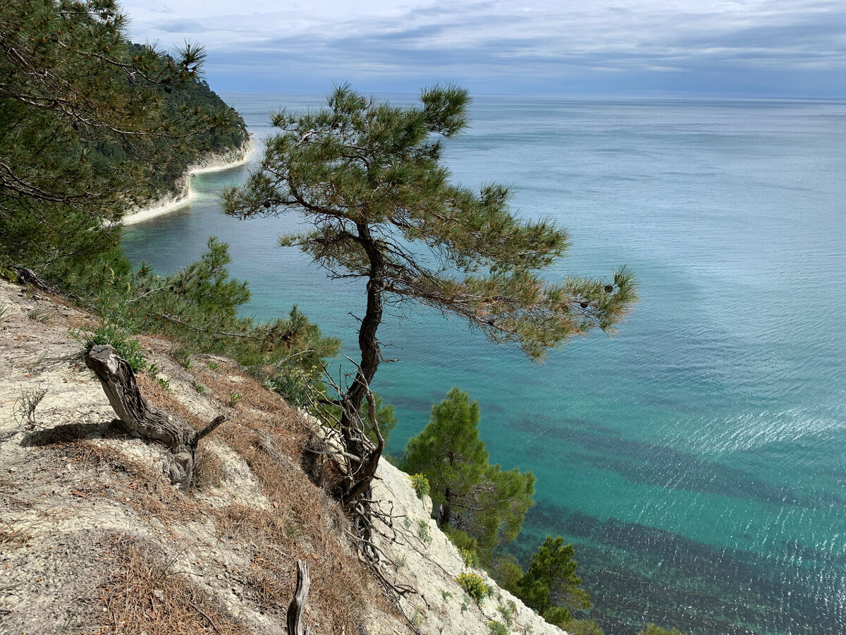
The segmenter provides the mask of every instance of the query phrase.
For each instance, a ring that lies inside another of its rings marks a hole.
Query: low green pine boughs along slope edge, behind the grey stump
[[[335,355],[340,343],[323,337],[296,306],[287,317],[266,323],[239,317],[250,291],[229,277],[229,261],[227,244],[211,238],[199,260],[168,276],[146,264],[133,271],[123,257],[103,257],[69,274],[67,283],[99,314],[113,339],[165,334],[177,342],[171,356],[186,368],[197,353],[227,355],[273,388],[299,382],[305,392],[320,374],[321,358]]]

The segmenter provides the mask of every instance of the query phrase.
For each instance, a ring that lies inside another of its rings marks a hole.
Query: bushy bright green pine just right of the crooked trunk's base
[[[434,505],[440,505],[438,524],[475,538],[474,550],[513,540],[535,491],[531,472],[503,471],[488,462],[478,423],[478,402],[453,388],[432,406],[431,421],[409,439],[402,461],[406,472],[429,479]]]

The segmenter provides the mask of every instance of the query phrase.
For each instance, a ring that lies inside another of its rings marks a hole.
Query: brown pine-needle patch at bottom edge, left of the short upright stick
[[[173,572],[154,545],[118,536],[107,557],[114,569],[100,596],[108,622],[99,635],[250,635],[194,583]]]

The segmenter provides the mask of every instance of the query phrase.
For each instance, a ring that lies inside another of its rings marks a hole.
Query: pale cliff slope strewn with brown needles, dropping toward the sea
[[[59,297],[0,280],[0,633],[278,633],[296,560],[311,569],[314,633],[561,633],[497,588],[481,604],[408,475],[382,460],[374,496],[382,574],[360,562],[349,523],[300,467],[314,420],[221,356],[176,362],[141,337],[140,389],[201,427],[195,482],[174,489],[166,450],[131,438],[80,357],[96,320]],[[75,330],[74,330],[75,329]],[[77,338],[79,336],[77,335]]]

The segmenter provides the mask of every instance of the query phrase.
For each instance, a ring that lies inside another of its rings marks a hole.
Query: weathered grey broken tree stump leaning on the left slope
[[[195,430],[185,422],[147,404],[135,382],[135,373],[111,345],[97,345],[85,354],[85,364],[100,380],[108,402],[118,414],[124,428],[146,439],[168,446],[172,460],[167,474],[170,482],[188,489],[194,475],[197,444],[226,417],[215,417],[205,428]]]

